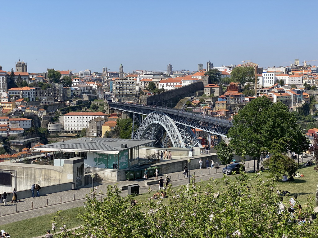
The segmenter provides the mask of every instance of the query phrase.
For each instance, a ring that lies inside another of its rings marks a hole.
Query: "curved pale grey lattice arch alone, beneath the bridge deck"
[[[187,143],[189,139],[188,134],[191,134],[192,139],[195,138],[193,132],[189,128],[188,130],[181,129],[175,124],[175,122],[166,114],[158,111],[151,112],[148,116],[146,116],[142,123],[139,125],[137,129],[134,139],[143,139],[147,131],[154,125],[159,124],[162,128],[167,132],[167,136],[169,137],[172,146],[177,148],[190,148],[192,146],[200,146],[199,142],[196,140],[195,143]],[[183,126],[184,127],[184,126]],[[153,139],[153,138],[148,138]]]

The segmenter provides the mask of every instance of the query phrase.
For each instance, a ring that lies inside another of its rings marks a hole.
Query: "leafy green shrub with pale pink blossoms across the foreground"
[[[255,180],[254,186],[250,179]],[[138,197],[122,197],[117,187],[108,186],[104,198],[87,197],[87,212],[79,214],[85,226],[74,234],[64,231],[57,237],[317,237],[317,219],[311,219],[313,206],[302,204],[303,209],[296,210],[291,219],[288,201],[284,201],[286,209],[279,210],[274,181],[242,173],[233,179],[224,177],[225,186],[218,183],[210,179],[203,187],[192,178],[189,191],[186,186],[172,189],[169,185],[167,198],[134,205],[132,200]],[[65,228],[63,222],[53,222],[52,228]]]

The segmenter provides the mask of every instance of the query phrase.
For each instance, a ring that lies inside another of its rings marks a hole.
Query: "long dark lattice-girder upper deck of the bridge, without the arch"
[[[184,125],[190,128],[197,128],[218,136],[226,136],[230,127],[232,127],[232,123],[227,120],[216,119],[209,116],[203,117],[192,112],[183,113],[178,109],[117,102],[108,102],[108,105],[113,109],[133,112],[141,115],[149,115],[153,111],[162,112],[171,118],[176,124]]]

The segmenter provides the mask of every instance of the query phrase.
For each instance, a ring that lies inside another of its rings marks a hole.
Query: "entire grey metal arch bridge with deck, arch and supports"
[[[152,144],[154,147],[166,148],[168,138],[173,147],[202,147],[191,128],[208,132],[208,141],[217,143],[232,127],[231,122],[223,119],[173,108],[119,102],[108,102],[108,105],[112,109],[133,113],[132,138],[156,140]]]

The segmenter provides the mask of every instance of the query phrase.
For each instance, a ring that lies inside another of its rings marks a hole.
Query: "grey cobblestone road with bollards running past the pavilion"
[[[255,161],[255,166],[256,166]],[[253,161],[248,161],[245,164],[246,171],[253,169]],[[190,170],[191,175],[197,176],[197,181],[201,179],[206,181],[209,180],[210,177],[220,178],[223,177],[222,167],[218,169],[194,169]],[[183,171],[170,173],[169,177],[171,179],[171,184],[173,187],[185,185],[188,183],[188,179],[184,178],[182,174]],[[162,175],[163,176],[163,175]],[[160,176],[159,176],[160,178]],[[165,178],[165,177],[164,177]],[[155,180],[155,177],[149,178],[149,180]],[[144,184],[145,179],[136,179],[134,181],[102,181],[101,183],[94,183],[94,187],[98,188],[98,192],[106,192],[107,186],[117,183],[118,186],[121,184],[131,184],[131,183],[139,183],[140,189],[139,192],[146,193],[148,192],[148,188],[152,187],[153,190],[157,190],[157,184],[148,185]],[[68,190],[53,194],[41,195],[36,198],[25,198],[22,199],[21,202],[11,203],[9,202],[6,207],[0,206],[0,224],[7,224],[14,221],[22,221],[25,219],[38,217],[45,214],[54,213],[58,210],[66,210],[70,208],[76,208],[83,206],[83,202],[85,202],[86,195],[89,195],[92,189],[92,185],[87,185],[84,188],[79,188],[76,190]],[[30,191],[31,194],[31,191]],[[128,194],[128,190],[122,190],[121,195],[126,196]],[[61,198],[62,197],[62,198]],[[75,199],[74,199],[75,198]],[[62,199],[62,202],[61,202]],[[33,209],[32,209],[33,202]],[[2,203],[3,204],[3,203]],[[48,206],[47,206],[48,204]],[[16,212],[17,210],[17,212]]]

